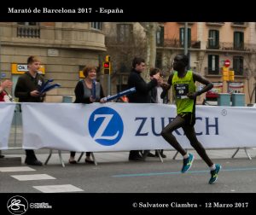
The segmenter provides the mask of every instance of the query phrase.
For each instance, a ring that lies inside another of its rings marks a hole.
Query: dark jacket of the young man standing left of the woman
[[[40,90],[44,84],[44,77],[37,73],[36,78],[33,78],[29,72],[22,74],[15,87],[15,97],[19,98],[19,102],[43,102],[44,97],[30,96],[33,90]]]

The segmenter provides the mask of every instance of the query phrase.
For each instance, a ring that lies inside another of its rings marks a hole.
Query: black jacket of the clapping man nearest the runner
[[[128,78],[128,88],[136,87],[136,92],[128,95],[130,103],[150,103],[149,91],[157,85],[157,80],[153,79],[148,84],[136,70],[132,70]]]

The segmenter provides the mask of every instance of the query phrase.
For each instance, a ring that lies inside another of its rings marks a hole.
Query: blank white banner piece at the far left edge
[[[15,113],[15,103],[0,102],[0,149],[8,149],[9,132]]]

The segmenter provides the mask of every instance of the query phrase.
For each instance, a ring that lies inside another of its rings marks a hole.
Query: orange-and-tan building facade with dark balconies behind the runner
[[[189,66],[214,84],[207,98],[217,101],[217,93],[244,93],[246,103],[255,102],[255,22],[188,24]],[[163,38],[164,42],[157,48],[158,67],[172,70],[170,65],[174,56],[184,50],[184,22],[166,22]],[[223,83],[222,70],[227,60],[230,61],[229,69],[234,71],[235,79]]]

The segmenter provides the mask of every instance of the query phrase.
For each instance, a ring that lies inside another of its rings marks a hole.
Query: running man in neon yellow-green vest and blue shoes
[[[176,100],[177,116],[172,122],[161,131],[161,136],[164,137],[166,142],[169,142],[180,154],[183,155],[183,168],[182,173],[189,170],[194,160],[193,154],[188,154],[181,145],[177,142],[176,137],[172,135],[172,131],[182,127],[186,137],[196,152],[201,156],[201,159],[207,163],[210,168],[211,178],[209,183],[216,182],[218,178],[218,171],[221,166],[213,164],[212,160],[208,157],[205,148],[201,145],[195,136],[195,102],[196,96],[211,90],[213,85],[206,78],[201,77],[200,74],[193,71],[187,71],[186,67],[189,64],[187,55],[176,55],[173,62],[174,73],[168,78],[168,84],[161,84],[164,91],[161,94],[163,98],[166,96],[167,91],[171,88]],[[195,81],[205,84],[204,88],[195,91]]]

